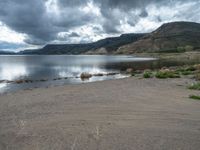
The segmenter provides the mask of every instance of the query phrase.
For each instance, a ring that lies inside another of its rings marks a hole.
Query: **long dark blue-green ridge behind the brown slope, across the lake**
[[[25,50],[20,54],[108,54],[114,53],[120,46],[133,43],[146,34],[123,34],[88,44],[48,44],[39,50]]]

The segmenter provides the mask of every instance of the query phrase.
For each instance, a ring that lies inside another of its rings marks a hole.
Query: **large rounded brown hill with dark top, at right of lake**
[[[199,23],[172,22],[162,25],[136,42],[120,47],[117,53],[181,52],[199,48]]]

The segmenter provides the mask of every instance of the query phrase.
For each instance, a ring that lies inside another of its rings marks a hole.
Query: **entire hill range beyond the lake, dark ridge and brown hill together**
[[[88,44],[49,44],[19,54],[134,54],[141,52],[184,52],[200,49],[200,24],[171,22],[144,34],[123,34]]]

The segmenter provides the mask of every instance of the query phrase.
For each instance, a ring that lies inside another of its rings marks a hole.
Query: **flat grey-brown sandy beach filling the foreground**
[[[126,78],[0,96],[0,150],[198,150],[191,79]]]

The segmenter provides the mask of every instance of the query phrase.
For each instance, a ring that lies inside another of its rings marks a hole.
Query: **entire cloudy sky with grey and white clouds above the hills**
[[[88,43],[173,21],[200,23],[200,0],[0,0],[0,50]]]

